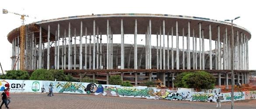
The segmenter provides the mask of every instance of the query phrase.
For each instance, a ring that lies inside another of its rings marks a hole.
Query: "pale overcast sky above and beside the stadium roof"
[[[252,34],[252,38],[249,40],[249,69],[256,70],[256,65],[254,65],[256,61],[254,56],[256,53],[254,48],[256,45],[254,37],[256,8],[253,0],[40,0],[40,2],[36,0],[2,0],[0,10],[2,11],[2,9],[37,17],[37,19],[26,18],[26,24],[33,21],[92,13],[172,14],[215,20],[240,16],[241,18],[235,20],[234,23],[245,27]],[[3,70],[11,68],[11,44],[7,41],[7,34],[20,25],[20,16],[0,13],[0,62]]]

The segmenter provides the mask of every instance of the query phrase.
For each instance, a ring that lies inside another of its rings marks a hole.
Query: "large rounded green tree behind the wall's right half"
[[[182,83],[185,88],[214,89],[216,79],[208,72],[187,73],[182,78]]]

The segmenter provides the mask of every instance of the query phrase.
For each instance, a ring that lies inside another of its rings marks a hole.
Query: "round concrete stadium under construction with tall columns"
[[[249,70],[248,62],[251,33],[233,26],[235,81],[246,84],[249,72],[255,72]],[[38,21],[26,25],[25,34],[23,58],[29,72],[63,69],[106,84],[110,75],[120,74],[135,85],[160,78],[169,86],[170,74],[205,70],[217,78],[216,84],[231,84],[232,29],[231,23],[224,21],[167,14],[97,14]],[[120,35],[121,43],[113,44],[113,34]],[[133,34],[134,44],[124,43],[125,34]],[[137,44],[137,34],[145,36],[145,45]],[[20,27],[7,35],[13,45],[12,69],[19,68],[19,35]],[[152,41],[155,36],[157,41]],[[102,37],[107,43],[102,43]],[[152,42],[157,45],[152,46]]]

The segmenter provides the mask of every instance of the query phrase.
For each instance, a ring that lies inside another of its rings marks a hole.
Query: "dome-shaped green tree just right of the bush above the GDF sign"
[[[35,70],[31,77],[30,80],[48,80],[48,81],[53,81],[53,75],[52,72],[50,72],[47,69],[37,69]]]

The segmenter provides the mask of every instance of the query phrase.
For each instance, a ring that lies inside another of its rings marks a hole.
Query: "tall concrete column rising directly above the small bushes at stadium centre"
[[[125,69],[125,47],[124,47],[125,37],[124,37],[124,26],[123,19],[121,19],[121,69]],[[122,73],[121,73],[122,75]]]

